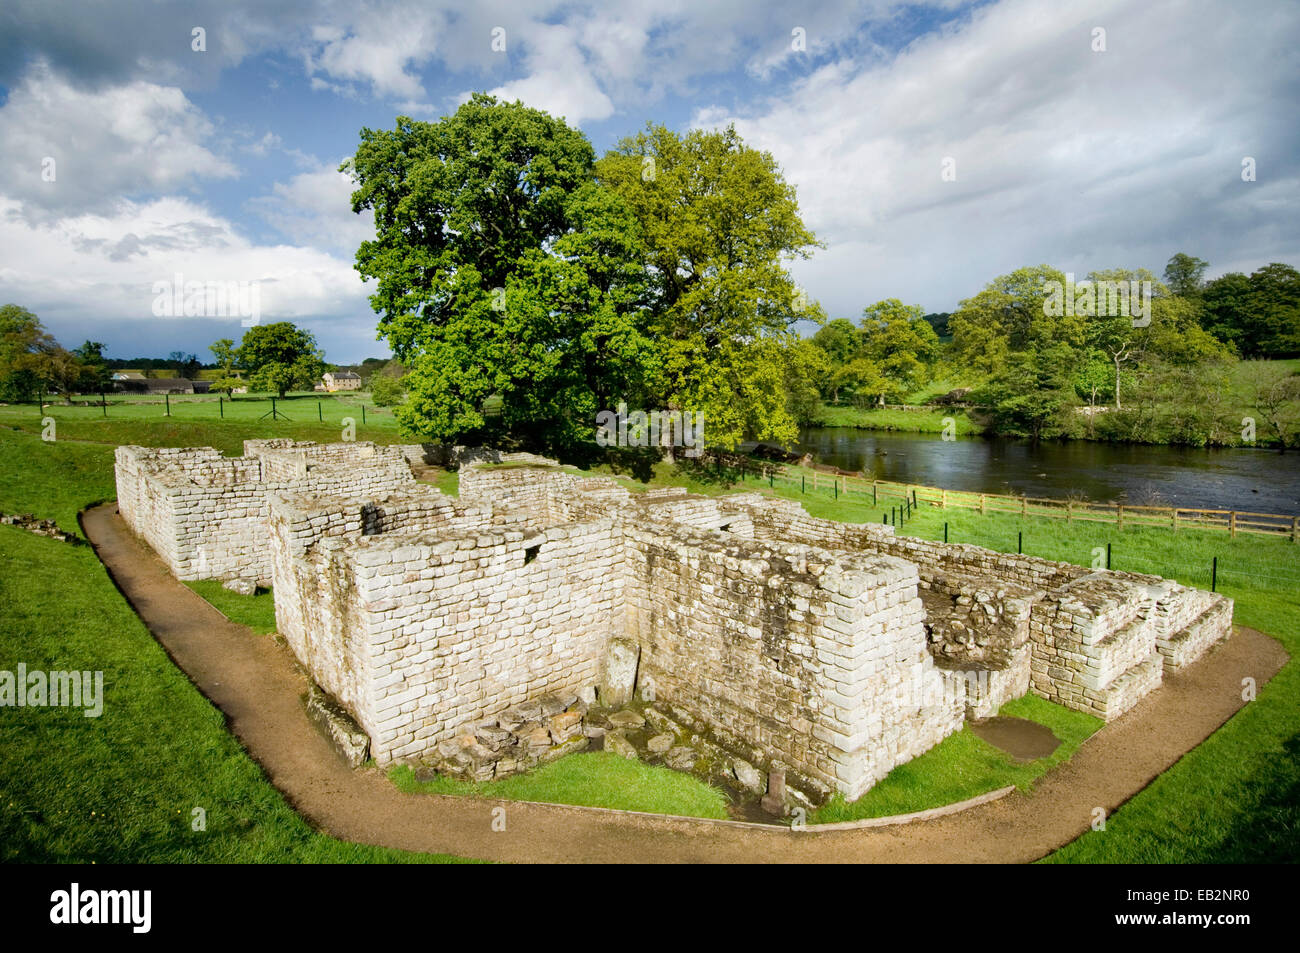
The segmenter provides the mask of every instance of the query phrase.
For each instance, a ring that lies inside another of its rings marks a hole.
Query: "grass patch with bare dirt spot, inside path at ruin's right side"
[[[829,824],[910,814],[978,797],[1009,784],[1028,789],[1044,774],[1067,761],[1102,725],[1100,718],[1070,711],[1032,694],[1008,702],[998,714],[1046,725],[1061,740],[1061,746],[1046,758],[1017,763],[1005,751],[976,737],[966,725],[920,757],[896,767],[857,801],[845,802],[844,796],[836,794],[809,822]]]

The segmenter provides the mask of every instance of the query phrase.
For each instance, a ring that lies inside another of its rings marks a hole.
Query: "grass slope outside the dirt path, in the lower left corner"
[[[0,527],[0,670],[23,662],[104,673],[99,718],[81,709],[0,712],[0,861],[452,859],[312,831],[172,664],[90,547]],[[205,831],[191,829],[195,807],[207,811]]]

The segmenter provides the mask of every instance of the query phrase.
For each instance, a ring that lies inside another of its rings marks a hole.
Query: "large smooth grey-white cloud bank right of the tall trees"
[[[833,313],[884,296],[948,309],[1043,261],[1158,273],[1175,251],[1213,263],[1261,233],[1274,259],[1294,259],[1275,213],[1245,212],[1294,198],[1295,166],[1251,186],[1238,172],[1251,148],[1295,142],[1275,112],[1294,83],[1297,18],[1180,9],[1006,0],[887,61],[837,60],[775,100],[701,108],[693,124],[734,121],[781,164],[829,244],[794,272]],[[1104,53],[1091,48],[1096,25]],[[956,182],[941,179],[944,157]],[[1216,221],[1232,229],[1205,228]]]

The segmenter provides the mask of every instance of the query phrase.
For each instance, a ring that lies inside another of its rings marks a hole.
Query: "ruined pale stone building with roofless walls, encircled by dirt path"
[[[354,762],[476,780],[650,718],[670,764],[697,745],[770,798],[854,800],[1026,692],[1118,718],[1231,632],[1231,599],[1157,576],[456,456],[459,498],[413,478],[422,446],[124,446],[118,510],[177,577],[274,588]]]

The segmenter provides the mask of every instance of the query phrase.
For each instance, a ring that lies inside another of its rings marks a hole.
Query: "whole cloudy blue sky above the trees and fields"
[[[252,311],[387,356],[339,164],[474,91],[597,153],[734,124],[796,187],[824,247],[790,270],[832,317],[1036,264],[1300,265],[1295,0],[5,0],[0,303],[108,358],[211,360]],[[195,282],[243,307],[168,313]]]

